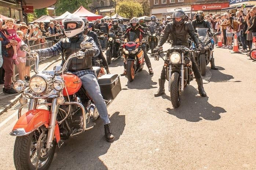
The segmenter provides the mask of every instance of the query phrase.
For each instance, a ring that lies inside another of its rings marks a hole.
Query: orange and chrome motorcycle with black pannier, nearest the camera
[[[88,42],[81,43],[81,49],[91,48]],[[21,49],[28,52],[28,46]],[[14,144],[14,165],[17,170],[47,170],[54,156],[55,147],[61,147],[69,137],[77,136],[95,126],[99,113],[94,101],[85,91],[80,78],[67,72],[72,58],[84,57],[83,50],[69,56],[63,67],[53,71],[38,71],[39,56],[36,58],[35,75],[26,88],[25,82],[14,83],[16,91],[21,92],[21,107],[18,121],[11,136],[16,136]],[[102,75],[99,67],[93,67],[97,76],[102,96],[106,105],[121,91],[118,75]],[[28,102],[28,99],[30,101]],[[45,109],[39,109],[43,105]],[[29,106],[28,112],[21,115],[23,107]]]

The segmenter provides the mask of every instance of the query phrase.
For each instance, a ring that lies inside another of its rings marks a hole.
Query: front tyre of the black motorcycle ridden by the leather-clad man
[[[180,91],[180,75],[178,72],[173,72],[171,76],[171,102],[174,108],[178,108],[181,102],[181,91]]]

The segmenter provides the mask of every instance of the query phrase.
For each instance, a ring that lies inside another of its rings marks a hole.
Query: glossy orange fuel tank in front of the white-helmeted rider
[[[75,94],[82,86],[81,79],[73,74],[64,74],[63,75],[64,81],[65,81],[65,86],[67,88],[67,92],[65,88],[63,89],[63,95],[67,96]]]

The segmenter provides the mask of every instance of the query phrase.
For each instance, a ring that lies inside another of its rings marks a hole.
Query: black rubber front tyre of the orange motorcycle
[[[39,128],[41,129],[41,128]],[[46,129],[46,128],[45,128]],[[33,144],[34,144],[34,139],[37,140],[37,137],[34,138],[34,136],[37,136],[36,133],[40,133],[39,131],[34,131],[30,133],[29,135],[26,136],[18,136],[16,137],[15,144],[14,144],[14,165],[16,170],[35,170],[36,169],[36,164],[33,165],[31,160],[30,160],[30,152],[32,152]],[[47,132],[45,133],[47,134]],[[47,138],[47,136],[46,136]],[[36,141],[35,140],[35,141]],[[42,144],[42,148],[45,146],[45,144]],[[43,165],[38,164],[38,169],[40,170],[47,170],[48,167],[50,166],[52,159],[54,157],[55,153],[55,148],[56,148],[56,142],[55,140],[52,142],[52,147],[50,148],[49,153],[47,154],[47,158],[42,158],[40,156],[39,160],[40,163],[43,163]],[[30,151],[32,150],[32,151]],[[36,152],[36,151],[34,151]],[[33,158],[33,157],[32,157]],[[42,162],[41,162],[42,161]]]

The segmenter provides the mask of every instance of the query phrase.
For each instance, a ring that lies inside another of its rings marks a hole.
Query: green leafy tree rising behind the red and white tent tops
[[[61,15],[66,11],[73,13],[80,6],[88,8],[89,3],[91,3],[91,0],[58,0],[58,2],[55,4],[56,15]]]

